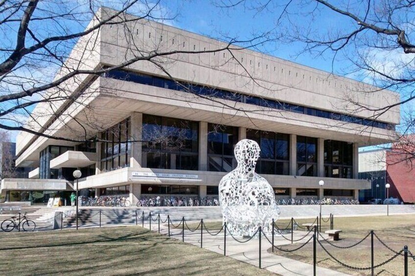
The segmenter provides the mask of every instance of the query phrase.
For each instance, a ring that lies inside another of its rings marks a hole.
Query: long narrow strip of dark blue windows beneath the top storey
[[[394,125],[383,123],[383,122],[378,122],[374,120],[369,120],[369,119],[363,119],[363,118],[359,118],[356,116],[350,116],[346,114],[330,112],[330,111],[325,111],[325,110],[306,107],[306,106],[293,105],[289,103],[283,103],[281,101],[264,99],[261,97],[244,95],[244,94],[231,92],[231,91],[227,91],[223,89],[210,88],[205,85],[193,85],[193,84],[188,84],[184,82],[175,82],[175,81],[161,78],[161,77],[127,72],[124,70],[113,70],[111,72],[107,72],[104,74],[104,77],[134,82],[134,83],[143,84],[143,85],[152,85],[152,86],[162,87],[166,89],[191,92],[197,95],[231,100],[231,101],[239,102],[239,103],[246,103],[246,104],[251,104],[251,105],[256,105],[256,106],[263,106],[263,107],[269,107],[269,108],[274,108],[274,109],[279,109],[279,110],[292,111],[296,113],[307,114],[311,116],[327,118],[327,119],[332,119],[332,120],[337,120],[337,121],[343,121],[347,123],[355,123],[359,125],[379,127],[379,128],[384,128],[384,129],[395,129]]]

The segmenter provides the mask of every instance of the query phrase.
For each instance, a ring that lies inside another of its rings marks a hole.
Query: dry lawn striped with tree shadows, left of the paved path
[[[271,275],[136,226],[0,234],[1,275]]]

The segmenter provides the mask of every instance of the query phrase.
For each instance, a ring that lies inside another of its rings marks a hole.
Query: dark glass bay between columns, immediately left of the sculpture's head
[[[233,148],[238,143],[238,127],[208,124],[208,170],[229,172],[236,168]]]

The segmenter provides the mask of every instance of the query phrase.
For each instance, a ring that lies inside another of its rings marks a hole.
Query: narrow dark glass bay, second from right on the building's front
[[[297,175],[317,176],[317,138],[297,136]]]

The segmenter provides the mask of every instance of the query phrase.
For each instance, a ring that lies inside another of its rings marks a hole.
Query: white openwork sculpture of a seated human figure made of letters
[[[234,149],[238,166],[219,183],[223,222],[234,236],[253,236],[259,226],[265,234],[271,234],[272,220],[279,217],[273,188],[255,173],[259,152],[255,141],[239,141]]]

